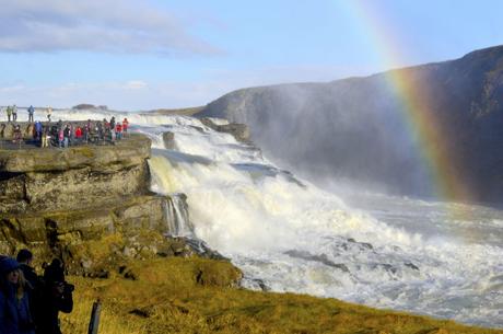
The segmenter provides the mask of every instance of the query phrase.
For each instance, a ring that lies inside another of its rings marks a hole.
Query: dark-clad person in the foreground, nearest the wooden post
[[[73,310],[73,286],[65,280],[61,262],[52,260],[44,273],[45,287],[37,307],[37,333],[61,334],[58,313]]]

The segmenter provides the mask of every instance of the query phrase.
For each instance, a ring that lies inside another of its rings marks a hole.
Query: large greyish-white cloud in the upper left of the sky
[[[0,0],[0,51],[218,54],[148,1]]]

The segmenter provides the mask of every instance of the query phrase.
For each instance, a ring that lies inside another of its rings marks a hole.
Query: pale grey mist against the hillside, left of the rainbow
[[[258,88],[241,97],[231,120],[250,126],[267,158],[315,184],[433,195],[417,138],[383,77]]]

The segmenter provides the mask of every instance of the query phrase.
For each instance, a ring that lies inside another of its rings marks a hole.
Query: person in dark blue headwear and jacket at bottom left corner
[[[35,334],[25,283],[17,261],[0,260],[0,333]]]

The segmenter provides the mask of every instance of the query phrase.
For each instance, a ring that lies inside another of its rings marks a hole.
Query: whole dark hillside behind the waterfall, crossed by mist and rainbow
[[[266,153],[321,183],[349,178],[430,196],[426,152],[443,169],[440,180],[456,175],[469,189],[469,198],[451,192],[453,199],[501,204],[502,101],[499,46],[367,78],[243,89],[198,116],[247,124]]]

